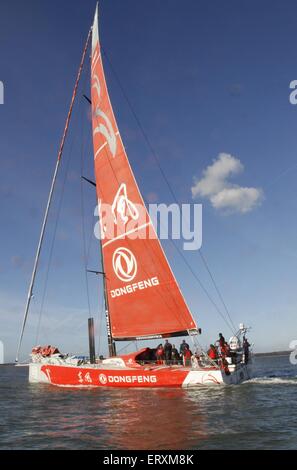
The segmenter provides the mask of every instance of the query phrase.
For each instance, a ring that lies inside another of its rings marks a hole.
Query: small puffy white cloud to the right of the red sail
[[[203,177],[194,180],[191,188],[193,198],[206,197],[215,209],[228,213],[251,211],[261,203],[262,189],[241,187],[228,181],[228,178],[243,170],[244,166],[238,158],[220,153],[213,164],[203,171]]]

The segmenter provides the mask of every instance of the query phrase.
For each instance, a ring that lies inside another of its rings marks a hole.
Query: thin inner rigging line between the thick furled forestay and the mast
[[[85,83],[86,83],[86,80],[87,80],[87,75],[85,76]],[[82,99],[80,100],[80,102],[78,104],[79,108],[82,110],[81,105],[82,105]],[[77,126],[78,118],[79,118],[79,111],[77,112],[77,114],[75,115],[75,118],[74,118],[75,119],[74,124],[73,124],[74,129]],[[61,191],[60,200],[59,200],[59,204],[58,204],[58,210],[57,210],[57,216],[56,216],[56,221],[55,221],[55,226],[54,226],[53,238],[52,238],[52,241],[51,241],[50,253],[49,253],[47,269],[46,269],[46,274],[45,274],[44,289],[43,289],[43,293],[42,293],[39,316],[38,316],[38,324],[37,324],[37,331],[36,331],[36,338],[35,338],[35,343],[36,344],[38,344],[39,335],[40,335],[41,320],[42,320],[42,314],[43,314],[43,309],[44,309],[45,298],[46,298],[46,294],[47,294],[48,279],[49,279],[49,273],[50,273],[50,269],[51,269],[51,265],[52,265],[53,252],[54,252],[54,247],[55,247],[55,242],[56,242],[56,234],[57,234],[58,224],[59,224],[60,216],[61,216],[61,210],[62,210],[62,204],[63,204],[63,199],[64,199],[66,181],[67,181],[68,172],[69,172],[70,161],[71,161],[72,156],[73,156],[73,146],[74,146],[74,143],[76,141],[77,135],[78,135],[77,132],[73,133],[73,137],[72,137],[72,140],[71,140],[71,144],[70,144],[70,147],[69,147],[69,152],[68,152],[68,156],[67,156],[67,160],[66,160],[65,175],[64,175],[63,182],[62,182],[62,191]]]

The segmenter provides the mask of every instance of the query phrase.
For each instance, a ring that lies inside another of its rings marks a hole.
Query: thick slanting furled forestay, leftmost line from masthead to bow
[[[76,77],[76,82],[75,82],[75,85],[74,85],[72,98],[71,98],[71,102],[70,102],[70,107],[69,107],[68,115],[67,115],[67,118],[66,118],[64,132],[63,132],[63,135],[62,135],[62,140],[61,140],[61,144],[60,144],[60,148],[59,148],[59,152],[58,152],[58,157],[57,157],[57,162],[56,162],[54,175],[53,175],[53,179],[52,179],[52,183],[51,183],[51,188],[50,188],[50,192],[49,192],[49,196],[48,196],[48,200],[47,200],[47,205],[46,205],[46,209],[45,209],[45,213],[44,213],[44,217],[43,217],[43,222],[42,222],[41,232],[40,232],[40,236],[39,236],[37,251],[36,251],[36,255],[35,255],[34,266],[33,266],[31,281],[30,281],[30,285],[29,285],[29,290],[28,290],[27,302],[26,302],[26,307],[25,307],[25,312],[24,312],[23,323],[22,323],[21,333],[20,333],[20,337],[19,337],[15,362],[18,362],[18,360],[19,360],[19,353],[20,353],[20,349],[21,349],[21,345],[22,345],[22,340],[23,340],[24,330],[25,330],[25,326],[26,326],[26,321],[27,321],[27,317],[28,317],[28,312],[29,312],[29,308],[30,308],[31,299],[33,297],[33,287],[34,287],[34,282],[35,282],[35,278],[36,278],[36,272],[37,272],[37,267],[38,267],[42,242],[43,242],[43,239],[44,239],[46,224],[47,224],[47,220],[48,220],[48,214],[49,214],[49,210],[50,210],[50,206],[51,206],[51,202],[52,202],[52,198],[53,198],[53,193],[54,193],[55,184],[56,184],[56,180],[57,180],[58,170],[59,170],[60,163],[61,163],[63,149],[64,149],[64,145],[65,145],[65,141],[66,141],[66,137],[67,137],[67,133],[68,133],[68,129],[69,129],[69,123],[70,123],[70,119],[71,119],[71,115],[72,115],[73,105],[74,105],[74,101],[75,101],[75,98],[76,98],[76,95],[77,95],[77,89],[78,89],[78,85],[79,85],[83,65],[84,65],[84,62],[85,62],[85,57],[86,57],[90,37],[91,37],[91,29],[89,30],[87,40],[86,40],[86,44],[85,44],[85,47],[84,47],[84,50],[83,50],[81,62],[80,62],[80,65],[79,65],[79,69],[78,69],[78,73],[77,73],[77,77]]]

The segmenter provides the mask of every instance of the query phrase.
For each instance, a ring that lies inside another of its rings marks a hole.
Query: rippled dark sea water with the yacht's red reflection
[[[0,367],[1,449],[297,449],[297,366],[255,359],[255,378],[193,389],[69,389]]]

